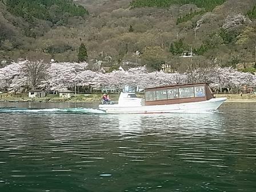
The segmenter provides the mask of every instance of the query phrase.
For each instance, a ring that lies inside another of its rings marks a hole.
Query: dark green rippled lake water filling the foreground
[[[255,103],[161,115],[0,107],[1,192],[256,191]]]

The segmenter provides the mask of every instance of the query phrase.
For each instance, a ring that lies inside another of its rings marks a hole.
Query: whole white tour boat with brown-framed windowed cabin
[[[208,83],[188,83],[144,90],[145,98],[135,91],[122,91],[118,103],[99,105],[107,114],[205,113],[217,110],[227,98],[215,98]]]

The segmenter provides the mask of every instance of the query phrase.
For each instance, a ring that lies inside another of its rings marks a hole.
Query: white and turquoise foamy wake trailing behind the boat
[[[105,114],[105,111],[89,108],[51,108],[51,109],[28,109],[19,107],[0,107],[0,113],[73,113],[73,114]]]

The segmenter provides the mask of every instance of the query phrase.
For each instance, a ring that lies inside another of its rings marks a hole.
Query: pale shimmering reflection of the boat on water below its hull
[[[186,135],[195,133],[203,133],[213,131],[219,134],[218,129],[223,126],[223,115],[221,113],[207,114],[120,114],[108,115],[108,119],[119,123],[119,131],[122,134],[134,134],[143,132],[143,125],[147,125],[145,129],[153,128],[158,130],[159,134],[163,132],[181,132]],[[189,126],[187,123],[189,122]],[[150,123],[150,127],[149,127]],[[171,129],[170,128],[171,125]],[[210,129],[209,129],[210,128]]]

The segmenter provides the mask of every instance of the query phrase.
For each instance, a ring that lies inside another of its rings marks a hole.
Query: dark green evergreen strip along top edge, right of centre
[[[174,4],[194,4],[209,11],[225,1],[226,0],[133,0],[131,7],[169,7]]]

